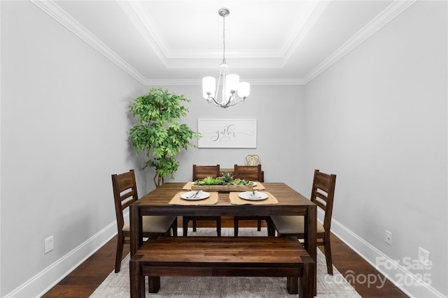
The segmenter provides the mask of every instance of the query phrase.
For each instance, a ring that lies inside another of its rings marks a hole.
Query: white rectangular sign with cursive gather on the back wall
[[[257,119],[197,119],[199,148],[256,148]]]

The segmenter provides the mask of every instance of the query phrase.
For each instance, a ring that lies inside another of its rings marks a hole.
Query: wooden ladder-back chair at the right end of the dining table
[[[327,272],[333,274],[331,247],[330,247],[330,225],[335,197],[335,174],[325,174],[314,170],[313,186],[311,190],[311,202],[321,208],[325,215],[323,223],[317,221],[316,245],[324,246],[325,260],[327,261]],[[271,216],[273,227],[279,236],[294,235],[304,239],[304,216]]]

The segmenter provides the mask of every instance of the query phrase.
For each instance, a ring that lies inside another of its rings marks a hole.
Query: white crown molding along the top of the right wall
[[[372,36],[373,33],[384,27],[384,25],[393,20],[397,15],[400,15],[400,13],[409,8],[409,6],[412,6],[415,2],[416,0],[393,1],[379,15],[377,15],[377,17],[374,17],[371,22],[365,25],[363,29],[360,29],[360,31],[347,40],[344,45],[333,52],[330,57],[325,59],[321,64],[314,68],[314,70],[311,70],[311,72],[303,78],[305,84],[314,80],[314,78],[318,77],[318,75],[339,61],[339,59],[342,59],[342,57],[351,52],[351,50],[358,47],[364,40]]]

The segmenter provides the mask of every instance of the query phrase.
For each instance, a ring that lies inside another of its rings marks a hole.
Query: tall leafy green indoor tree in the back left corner
[[[168,90],[151,89],[148,94],[134,99],[129,110],[137,123],[130,129],[130,137],[135,154],[144,151],[148,161],[144,167],[154,167],[154,184],[163,184],[165,177],[179,167],[176,155],[181,149],[196,147],[191,142],[200,134],[186,124],[180,124],[180,117],[185,117],[188,109],[181,102],[190,102],[183,95],[169,93]]]

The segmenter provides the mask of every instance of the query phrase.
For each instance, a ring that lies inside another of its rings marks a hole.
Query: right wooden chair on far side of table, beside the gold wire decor
[[[261,165],[234,165],[233,177],[251,181],[264,182],[261,174]],[[233,229],[235,237],[238,236],[239,221],[257,221],[257,230],[261,230],[261,221],[270,225],[269,216],[235,216],[233,218]],[[269,232],[269,228],[267,229]]]

